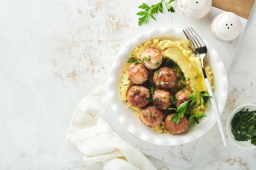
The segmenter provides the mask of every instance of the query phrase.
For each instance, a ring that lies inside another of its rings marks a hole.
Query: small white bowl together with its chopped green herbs
[[[233,110],[227,121],[229,139],[241,148],[256,148],[256,105],[243,104]]]

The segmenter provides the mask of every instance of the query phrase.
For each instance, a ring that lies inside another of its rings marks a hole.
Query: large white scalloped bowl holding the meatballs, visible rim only
[[[130,40],[130,42],[128,42],[118,53],[110,71],[110,103],[120,123],[136,137],[157,145],[173,146],[185,144],[201,137],[210,128],[212,128],[214,124],[216,124],[216,119],[210,100],[208,102],[208,108],[204,112],[207,117],[201,119],[199,124],[189,124],[188,129],[181,134],[158,133],[151,128],[148,128],[137,118],[134,110],[127,108],[126,103],[121,101],[121,77],[124,66],[128,61],[128,56],[130,53],[132,53],[136,46],[141,45],[147,40],[153,40],[155,38],[159,38],[160,40],[169,39],[173,41],[186,40],[186,36],[184,35],[182,29],[173,27],[157,28],[146,31]],[[227,73],[217,51],[213,49],[211,44],[209,44],[207,41],[204,40],[204,42],[207,46],[207,55],[205,57],[205,61],[209,64],[211,70],[213,71],[213,94],[216,98],[219,113],[221,114],[227,100]]]

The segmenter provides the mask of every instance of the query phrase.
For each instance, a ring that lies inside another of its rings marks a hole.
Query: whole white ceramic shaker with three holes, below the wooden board
[[[241,32],[240,18],[231,12],[224,12],[213,18],[210,31],[214,38],[220,41],[235,39]]]

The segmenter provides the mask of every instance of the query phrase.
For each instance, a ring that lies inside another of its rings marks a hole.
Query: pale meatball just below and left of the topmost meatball
[[[148,75],[148,69],[142,64],[132,63],[128,68],[128,78],[133,84],[143,84]]]

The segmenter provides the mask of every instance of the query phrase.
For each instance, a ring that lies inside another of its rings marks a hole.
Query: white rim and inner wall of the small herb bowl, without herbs
[[[253,110],[256,110],[256,104],[242,104],[232,111],[232,113],[229,115],[229,119],[227,120],[227,135],[229,136],[229,139],[231,140],[231,142],[240,148],[256,149],[256,146],[251,144],[251,141],[237,141],[231,132],[231,121],[234,115],[243,108],[245,109],[248,108],[249,111],[253,111]]]

